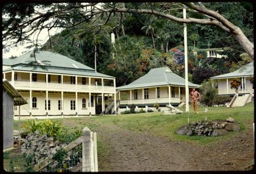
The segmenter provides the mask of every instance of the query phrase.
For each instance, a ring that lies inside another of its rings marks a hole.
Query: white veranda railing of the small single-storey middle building
[[[168,103],[169,98],[150,98],[150,99],[139,99],[139,100],[120,100],[120,104],[158,104]],[[170,98],[171,103],[180,103],[180,98]]]

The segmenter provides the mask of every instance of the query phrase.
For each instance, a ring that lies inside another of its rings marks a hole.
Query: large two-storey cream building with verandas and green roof
[[[27,52],[14,59],[3,58],[3,78],[28,103],[21,106],[21,116],[94,115],[105,112],[105,100],[116,101],[113,76],[54,52]],[[115,112],[116,102],[112,108]]]

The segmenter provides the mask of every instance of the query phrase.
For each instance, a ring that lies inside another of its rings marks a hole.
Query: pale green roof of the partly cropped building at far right
[[[221,74],[219,76],[213,76],[211,79],[220,79],[220,78],[235,78],[243,76],[254,76],[254,67],[253,62],[246,64],[245,66],[235,70],[234,72],[229,72],[227,74]]]

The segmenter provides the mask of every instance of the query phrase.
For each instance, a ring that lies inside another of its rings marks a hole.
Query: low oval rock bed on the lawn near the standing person
[[[216,120],[214,122],[195,122],[184,125],[179,128],[176,133],[181,135],[205,135],[205,136],[220,136],[227,133],[227,131],[239,131],[240,126],[235,123],[233,118],[227,120]]]

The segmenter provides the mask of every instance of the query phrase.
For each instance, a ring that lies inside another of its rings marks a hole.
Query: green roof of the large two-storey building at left
[[[76,62],[71,58],[49,51],[40,51],[36,53],[36,59],[45,64],[43,66],[47,67],[47,70],[44,70],[40,67],[29,67],[27,66],[27,64],[31,61],[35,61],[35,59],[31,57],[32,53],[33,52],[27,52],[26,54],[23,54],[22,56],[13,59],[13,61],[3,60],[5,64],[8,63],[9,65],[12,65],[11,68],[7,68],[3,70],[3,72],[9,70],[22,70],[29,72],[48,72],[53,74],[73,74],[82,76],[114,78],[113,76],[108,76],[106,74],[95,72],[93,68],[81,64],[80,62]],[[50,62],[43,62],[44,60]]]

